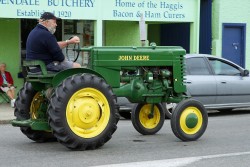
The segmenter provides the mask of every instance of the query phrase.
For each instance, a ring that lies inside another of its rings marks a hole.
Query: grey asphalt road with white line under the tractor
[[[153,136],[142,136],[129,120],[120,120],[113,138],[90,151],[71,151],[57,142],[35,143],[11,125],[0,125],[0,134],[4,167],[245,167],[250,163],[250,110],[209,114],[207,131],[195,142],[177,139],[169,120]]]

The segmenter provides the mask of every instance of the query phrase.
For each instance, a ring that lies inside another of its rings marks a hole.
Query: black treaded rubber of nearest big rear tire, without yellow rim
[[[73,93],[84,87],[98,87],[102,93],[108,95],[108,102],[111,108],[110,122],[105,130],[95,138],[85,139],[75,135],[67,125],[65,110],[68,99]],[[113,109],[112,109],[113,108]],[[51,97],[48,108],[49,124],[53,129],[53,134],[58,141],[72,150],[96,149],[104,145],[112,137],[117,129],[119,121],[119,106],[116,104],[116,96],[111,87],[102,79],[92,74],[75,74],[66,78],[55,90]]]

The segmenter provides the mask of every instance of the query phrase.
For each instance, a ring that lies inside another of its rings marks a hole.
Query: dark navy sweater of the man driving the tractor
[[[64,55],[57,44],[56,37],[46,27],[37,24],[30,32],[26,43],[27,60],[43,60],[45,64],[62,62]]]

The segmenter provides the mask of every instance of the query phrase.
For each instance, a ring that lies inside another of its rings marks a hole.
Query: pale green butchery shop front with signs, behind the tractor
[[[8,65],[19,89],[26,39],[45,11],[61,18],[57,39],[77,35],[81,47],[140,46],[144,36],[146,44],[199,52],[200,0],[2,0],[0,11],[0,61]],[[143,20],[144,30],[139,24]]]

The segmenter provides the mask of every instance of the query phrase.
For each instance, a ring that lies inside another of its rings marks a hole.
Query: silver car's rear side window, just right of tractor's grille
[[[202,57],[192,57],[186,59],[188,75],[209,75],[209,69]]]

